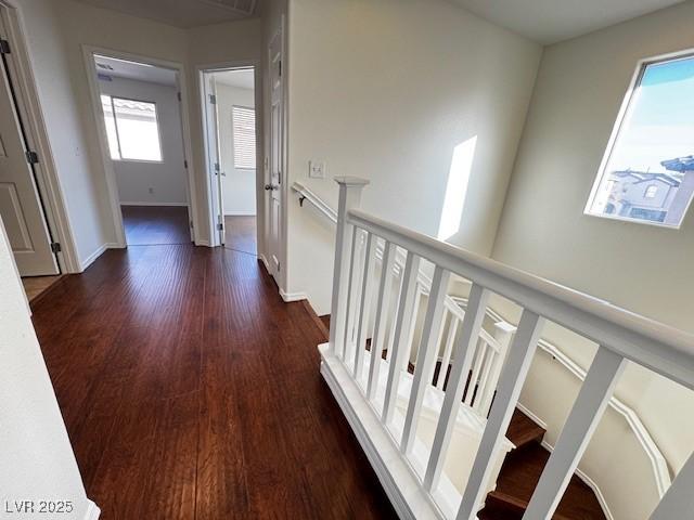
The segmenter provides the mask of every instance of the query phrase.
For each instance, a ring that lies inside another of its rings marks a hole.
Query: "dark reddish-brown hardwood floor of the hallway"
[[[253,256],[110,250],[33,310],[103,520],[396,518],[319,374],[324,332]]]

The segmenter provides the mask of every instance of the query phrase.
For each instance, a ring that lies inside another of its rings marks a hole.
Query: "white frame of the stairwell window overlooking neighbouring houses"
[[[637,68],[631,78],[631,82],[629,83],[629,89],[627,90],[627,93],[625,94],[625,99],[621,102],[621,106],[619,108],[619,113],[617,114],[617,119],[613,127],[612,134],[609,135],[609,140],[607,141],[607,147],[605,148],[603,159],[600,162],[600,168],[597,169],[597,176],[595,177],[595,180],[593,182],[593,187],[590,192],[590,196],[588,197],[588,203],[586,203],[586,208],[583,209],[584,216],[594,217],[597,219],[619,220],[622,222],[630,222],[632,224],[640,224],[640,225],[654,225],[656,227],[665,227],[667,230],[679,230],[682,226],[682,224],[684,223],[684,219],[686,218],[686,214],[692,205],[692,199],[694,199],[694,196],[690,198],[690,202],[686,208],[684,209],[684,212],[682,213],[682,219],[678,224],[666,224],[664,222],[653,222],[650,220],[631,219],[631,218],[621,217],[618,214],[611,214],[611,213],[594,213],[591,211],[591,207],[593,206],[595,197],[600,192],[600,185],[602,184],[602,180],[607,173],[607,165],[609,164],[609,157],[612,156],[612,153],[614,151],[615,143],[617,142],[617,138],[619,136],[619,132],[621,131],[624,122],[628,119],[628,116],[631,114],[631,110],[635,105],[634,102],[637,101],[637,98],[638,98],[637,88],[639,87],[639,84],[641,84],[641,80],[643,79],[643,75],[646,70],[646,67],[648,67],[648,65],[655,65],[658,63],[673,62],[677,60],[687,60],[691,57],[694,57],[694,49],[687,49],[684,51],[670,52],[668,54],[660,54],[657,56],[646,57],[646,58],[640,60],[637,63]]]

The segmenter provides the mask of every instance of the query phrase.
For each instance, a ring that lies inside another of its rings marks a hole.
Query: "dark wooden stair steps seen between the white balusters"
[[[479,520],[520,520],[540,474],[550,458],[542,445],[545,430],[516,408],[506,438],[516,446],[504,460],[497,489],[487,495]],[[555,520],[604,520],[605,515],[593,491],[574,476],[564,493]]]

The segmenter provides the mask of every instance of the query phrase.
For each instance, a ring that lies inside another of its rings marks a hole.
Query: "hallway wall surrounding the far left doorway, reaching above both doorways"
[[[209,240],[206,178],[195,68],[237,60],[259,60],[262,25],[257,18],[179,29],[150,20],[98,9],[74,0],[23,0],[17,6],[57,174],[67,200],[82,266],[113,245],[99,123],[91,108],[81,46],[182,63],[189,86],[192,160],[197,197],[196,238]]]

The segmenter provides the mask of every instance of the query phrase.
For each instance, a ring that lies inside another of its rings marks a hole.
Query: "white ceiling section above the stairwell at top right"
[[[556,43],[685,0],[450,0],[539,43]]]

